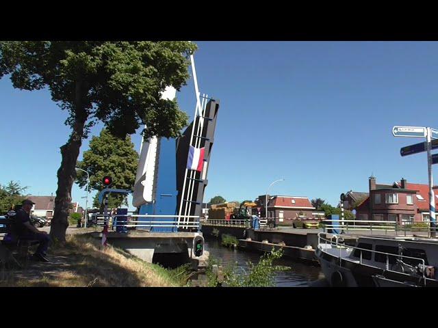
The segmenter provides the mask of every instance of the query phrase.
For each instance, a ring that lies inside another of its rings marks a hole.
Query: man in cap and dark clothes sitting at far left
[[[35,228],[30,221],[29,213],[35,203],[27,199],[23,200],[22,204],[23,206],[11,217],[14,222],[13,238],[18,238],[21,241],[38,241],[39,245],[34,258],[42,262],[49,262],[45,256],[49,248],[50,236],[47,232]]]

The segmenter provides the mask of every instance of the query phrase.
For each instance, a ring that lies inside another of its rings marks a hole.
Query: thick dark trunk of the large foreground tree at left
[[[67,143],[61,149],[61,166],[57,170],[57,190],[55,197],[55,210],[51,221],[50,236],[52,241],[65,243],[68,228],[68,215],[70,214],[71,188],[76,176],[76,163],[82,144],[83,127],[88,118],[88,113],[83,109],[81,102],[81,83],[76,83],[75,122],[73,131]]]

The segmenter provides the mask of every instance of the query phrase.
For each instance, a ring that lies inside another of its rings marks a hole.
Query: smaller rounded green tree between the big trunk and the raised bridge
[[[112,187],[116,189],[133,189],[138,166],[138,152],[134,150],[131,137],[125,139],[115,137],[106,128],[103,128],[99,137],[92,137],[90,149],[83,152],[82,161],[77,167],[90,175],[90,189],[101,191],[104,176],[112,176]],[[76,182],[79,187],[86,187],[87,175],[77,172]],[[115,194],[114,207],[122,204],[125,195]]]

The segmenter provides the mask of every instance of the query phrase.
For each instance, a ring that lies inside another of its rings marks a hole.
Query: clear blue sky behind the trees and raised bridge
[[[332,205],[342,192],[368,191],[372,173],[381,183],[428,182],[425,153],[400,156],[424,139],[396,138],[391,128],[438,128],[438,42],[196,43],[200,91],[220,100],[205,200],[251,200],[282,177],[272,195]],[[192,116],[192,80],[177,97]],[[47,90],[14,90],[8,78],[0,113],[0,183],[55,194],[67,113]],[[139,150],[140,135],[132,138]],[[83,195],[75,185],[73,201],[84,206]]]

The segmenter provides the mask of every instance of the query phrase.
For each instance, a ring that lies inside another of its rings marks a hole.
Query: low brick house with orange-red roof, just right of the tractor
[[[260,195],[255,202],[260,206],[260,216],[266,217],[264,204],[266,195]],[[268,195],[268,217],[276,217],[277,223],[292,226],[290,220],[297,217],[315,218],[324,216],[324,212],[316,211],[309,197]]]

